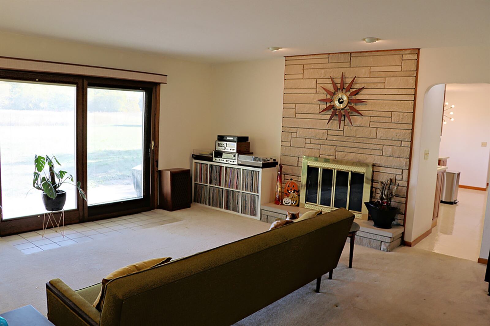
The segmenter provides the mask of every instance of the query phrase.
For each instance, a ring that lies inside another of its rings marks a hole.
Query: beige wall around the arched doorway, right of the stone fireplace
[[[420,50],[412,170],[408,192],[405,241],[414,241],[431,229],[436,191],[440,129],[432,128],[439,111],[425,107],[429,89],[446,83],[489,83],[490,47],[439,47]],[[429,159],[423,159],[424,150]],[[489,212],[487,211],[486,222]],[[489,237],[490,238],[490,237]]]

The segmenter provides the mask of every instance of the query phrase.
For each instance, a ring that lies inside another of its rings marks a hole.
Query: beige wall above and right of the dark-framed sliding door
[[[4,32],[0,56],[167,74],[161,88],[160,169],[189,167],[192,149],[207,148],[216,137],[209,129],[210,64]]]

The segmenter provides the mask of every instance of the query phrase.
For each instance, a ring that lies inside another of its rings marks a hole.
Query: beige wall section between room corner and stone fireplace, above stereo
[[[284,58],[214,65],[212,76],[215,134],[249,136],[255,155],[279,158]]]

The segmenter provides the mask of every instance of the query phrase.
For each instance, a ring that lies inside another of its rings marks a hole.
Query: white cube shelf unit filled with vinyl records
[[[260,219],[260,206],[274,198],[277,166],[258,168],[192,161],[193,202]]]

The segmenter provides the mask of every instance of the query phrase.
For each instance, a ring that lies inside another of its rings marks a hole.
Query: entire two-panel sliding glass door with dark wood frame
[[[0,70],[0,235],[42,227],[35,155],[55,155],[87,194],[61,188],[67,224],[153,209],[158,87]]]

